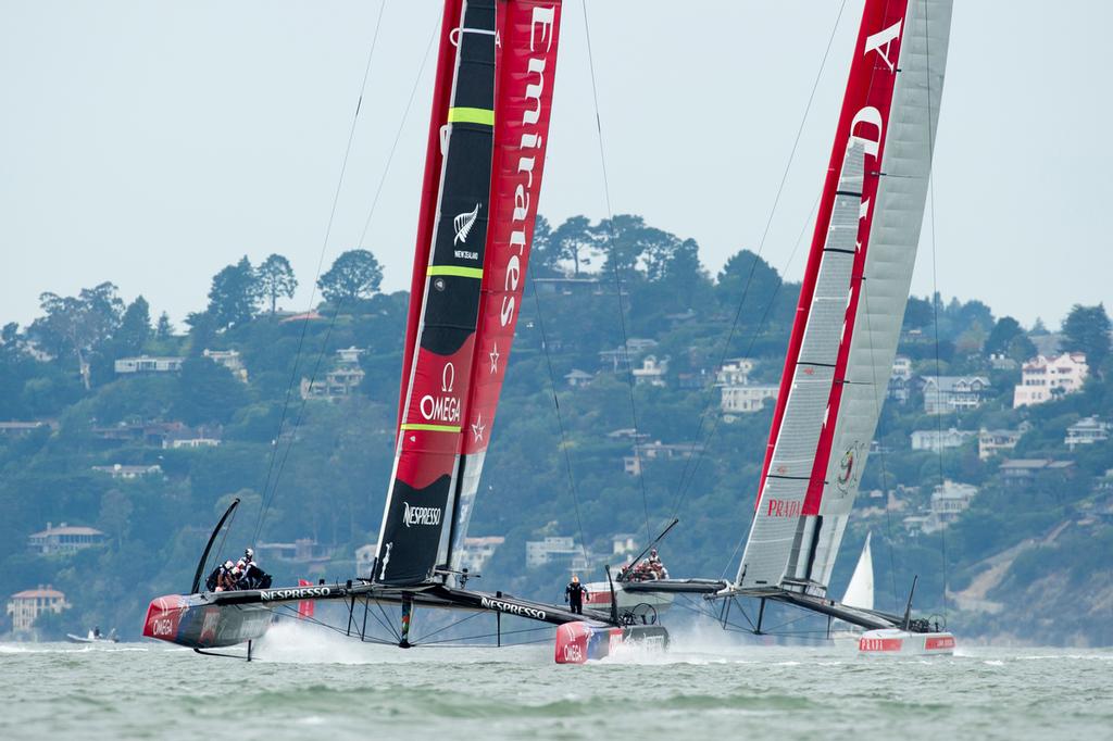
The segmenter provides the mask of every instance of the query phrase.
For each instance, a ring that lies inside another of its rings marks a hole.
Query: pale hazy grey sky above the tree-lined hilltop
[[[756,249],[841,0],[593,0],[614,213]],[[818,196],[863,0],[848,0],[764,256],[784,269]],[[247,254],[317,270],[380,3],[0,2],[0,322],[115,281],[175,320]],[[440,2],[393,0],[325,267],[355,246]],[[1024,323],[1113,303],[1113,3],[957,0],[935,158],[944,295]],[[580,0],[561,29],[541,211],[605,216]],[[433,62],[364,246],[408,285]],[[810,234],[810,225],[808,225]],[[788,265],[798,278],[807,238]],[[914,292],[932,288],[925,225]]]

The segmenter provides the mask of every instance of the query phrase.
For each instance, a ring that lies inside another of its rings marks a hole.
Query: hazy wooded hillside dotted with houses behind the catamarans
[[[567,565],[528,570],[526,541],[571,536],[595,569],[622,557],[617,535],[644,542],[673,514],[672,574],[732,575],[771,412],[723,409],[722,386],[772,393],[760,389],[777,386],[799,287],[748,250],[712,277],[692,240],[636,216],[541,224],[531,275],[471,525],[505,537],[484,586],[559,599]],[[141,297],[125,306],[111,284],[45,294],[32,325],[3,327],[0,594],[52,584],[72,607],[40,621],[45,634],[135,638],[152,595],[188,587],[233,496],[223,555],[288,544],[264,549],[278,580],[352,576],[377,536],[408,300],[378,293],[381,278],[371,253],[345,253],[319,279],[324,300],[294,314],[279,310],[288,263],[245,257],[186,327],[152,320]],[[918,607],[946,610],[964,635],[1113,643],[1109,346],[1101,306],[1052,335],[977,300],[912,299],[833,592],[871,532],[879,607],[902,606],[918,574]],[[1013,408],[1022,364],[1062,352],[1085,355],[1081,387]],[[737,358],[752,367],[720,373]],[[63,522],[100,535],[72,553],[43,553],[49,534],[32,547]]]

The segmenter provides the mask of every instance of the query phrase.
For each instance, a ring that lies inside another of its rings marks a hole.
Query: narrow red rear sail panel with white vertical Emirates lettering
[[[525,286],[549,140],[560,11],[560,2],[551,0],[499,3],[501,48],[491,225],[456,483],[454,554],[460,553],[475,503]],[[459,567],[455,559],[453,567]]]

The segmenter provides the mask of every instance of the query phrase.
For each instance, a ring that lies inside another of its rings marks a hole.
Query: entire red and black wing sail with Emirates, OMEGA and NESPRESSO
[[[445,2],[380,583],[427,582],[466,533],[525,284],[559,21],[559,0]]]

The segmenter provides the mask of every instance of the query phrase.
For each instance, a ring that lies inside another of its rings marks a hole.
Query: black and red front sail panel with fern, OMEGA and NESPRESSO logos
[[[471,378],[491,196],[494,128],[495,2],[466,0],[460,24],[441,30],[456,46],[444,121],[436,223],[425,267],[415,352],[404,387],[374,579],[427,581],[449,560],[464,404]],[[422,250],[418,250],[421,255]],[[418,258],[420,259],[420,258]]]

